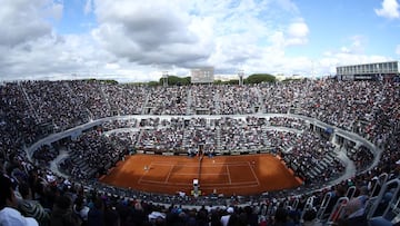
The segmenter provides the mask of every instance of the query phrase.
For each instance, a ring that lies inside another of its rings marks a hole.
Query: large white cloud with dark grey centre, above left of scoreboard
[[[114,56],[139,65],[178,65],[204,60],[211,52],[212,30],[196,26],[207,18],[191,17],[170,1],[97,1],[101,22],[96,37]]]

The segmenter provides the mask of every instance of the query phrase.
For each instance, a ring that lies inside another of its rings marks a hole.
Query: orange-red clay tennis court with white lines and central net
[[[191,194],[199,179],[202,195],[254,195],[297,187],[301,180],[269,154],[209,158],[137,154],[101,178],[104,184],[143,191]]]

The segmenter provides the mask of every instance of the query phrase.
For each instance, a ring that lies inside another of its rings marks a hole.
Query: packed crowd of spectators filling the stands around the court
[[[10,218],[29,225],[306,225],[316,218],[326,220],[318,214],[327,195],[332,200],[349,198],[337,224],[348,225],[354,217],[361,217],[357,222],[362,223],[367,200],[376,196],[372,191],[379,184],[377,178],[387,175],[380,187],[399,178],[399,86],[336,80],[157,88],[101,81],[3,83],[0,225],[17,223],[7,223]],[[262,117],[276,112],[303,115],[356,132],[382,149],[380,161],[369,168],[374,150],[351,147],[348,156],[356,163],[357,175],[326,187],[327,181],[343,171],[342,163],[331,155],[334,144],[314,134],[302,120]],[[197,114],[223,117],[206,120]],[[70,179],[54,175],[42,164],[57,157],[54,147],[43,146],[36,151],[34,159],[41,164],[27,159],[26,148],[46,136],[120,115],[152,117],[108,121],[66,143],[70,156],[61,168]],[[162,115],[173,117],[163,119],[159,117]],[[119,130],[122,128],[130,129]],[[199,144],[209,154],[222,155],[271,149],[299,170],[308,185],[322,189],[310,191],[300,187],[259,194],[247,197],[243,204],[237,196],[194,199],[113,188],[96,181],[99,174],[132,149],[191,154]],[[351,187],[356,191],[348,195],[346,190]],[[378,212],[383,213],[387,206],[380,205]]]

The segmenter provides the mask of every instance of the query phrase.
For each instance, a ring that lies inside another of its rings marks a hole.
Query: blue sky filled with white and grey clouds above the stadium
[[[334,75],[399,60],[399,0],[1,0],[0,81]]]

